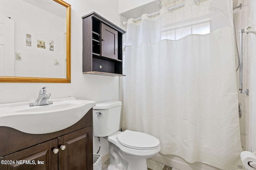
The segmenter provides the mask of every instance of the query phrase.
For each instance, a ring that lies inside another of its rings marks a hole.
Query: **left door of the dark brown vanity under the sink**
[[[0,160],[6,160],[6,164],[0,164],[0,170],[58,170],[54,147],[58,147],[58,139],[4,156]]]

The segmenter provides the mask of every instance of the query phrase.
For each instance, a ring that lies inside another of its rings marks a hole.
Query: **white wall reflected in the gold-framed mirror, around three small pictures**
[[[15,60],[15,76],[65,78],[64,20],[22,0],[0,2],[0,15],[14,19],[15,52],[22,55]],[[26,46],[26,34],[32,35],[31,47]],[[37,47],[38,39],[45,41],[45,49]],[[49,50],[51,40],[54,51]],[[54,65],[54,59],[59,65]]]

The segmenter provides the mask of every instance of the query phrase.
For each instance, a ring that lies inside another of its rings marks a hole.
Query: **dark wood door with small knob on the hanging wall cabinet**
[[[101,55],[110,59],[118,59],[118,32],[101,23]]]

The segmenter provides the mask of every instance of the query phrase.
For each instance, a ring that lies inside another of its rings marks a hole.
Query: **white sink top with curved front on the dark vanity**
[[[74,125],[96,106],[96,102],[76,98],[52,102],[43,106],[29,106],[30,102],[0,104],[0,126],[31,134],[52,133]]]

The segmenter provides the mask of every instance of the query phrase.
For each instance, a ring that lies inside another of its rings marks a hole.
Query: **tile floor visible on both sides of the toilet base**
[[[106,160],[105,162],[102,163],[102,170],[108,170],[108,165],[110,164],[110,159]],[[151,159],[147,159],[147,165],[148,165],[148,170],[178,170],[175,168],[172,168],[170,166],[161,164],[159,162],[156,162]]]

